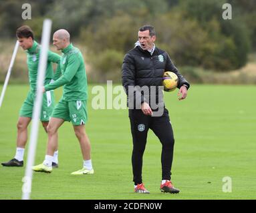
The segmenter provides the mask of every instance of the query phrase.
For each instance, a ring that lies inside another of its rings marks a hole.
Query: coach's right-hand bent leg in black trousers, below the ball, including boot
[[[154,134],[158,136],[162,144],[162,182],[160,184],[160,190],[162,192],[178,193],[179,190],[172,186],[170,182],[172,158],[174,150],[174,135],[172,130],[172,124],[168,116],[168,110],[164,108],[164,114],[159,117],[153,117],[150,128]]]

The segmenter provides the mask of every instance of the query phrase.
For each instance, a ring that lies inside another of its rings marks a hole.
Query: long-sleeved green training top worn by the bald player
[[[62,51],[60,68],[62,76],[54,83],[45,85],[45,91],[63,87],[64,101],[84,101],[88,98],[88,87],[84,57],[80,50],[68,45]]]

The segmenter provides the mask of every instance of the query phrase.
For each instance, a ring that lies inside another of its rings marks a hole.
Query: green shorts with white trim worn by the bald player
[[[74,126],[85,124],[88,120],[86,101],[64,101],[60,99],[53,110],[53,118],[72,120]]]

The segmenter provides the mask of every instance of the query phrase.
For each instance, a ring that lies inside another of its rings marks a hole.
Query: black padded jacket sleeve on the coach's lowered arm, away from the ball
[[[128,96],[128,107],[140,108],[144,97],[140,89],[136,87],[136,65],[129,53],[124,56],[122,64],[122,85]]]

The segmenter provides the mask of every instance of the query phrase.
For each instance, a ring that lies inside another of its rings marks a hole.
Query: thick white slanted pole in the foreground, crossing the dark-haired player
[[[33,106],[33,116],[32,116],[32,126],[31,126],[31,134],[29,140],[29,151],[27,154],[27,166],[25,170],[25,176],[22,181],[22,199],[29,200],[31,193],[31,185],[32,185],[32,166],[35,161],[35,150],[37,146],[37,133],[39,126],[39,116],[41,114],[41,104],[43,100],[43,83],[45,80],[45,69],[47,63],[47,52],[49,49],[49,36],[51,34],[51,20],[45,19],[43,21],[43,32],[41,39],[41,50],[40,50],[40,58],[38,65],[38,73],[37,73],[37,91],[35,97],[35,103]]]

